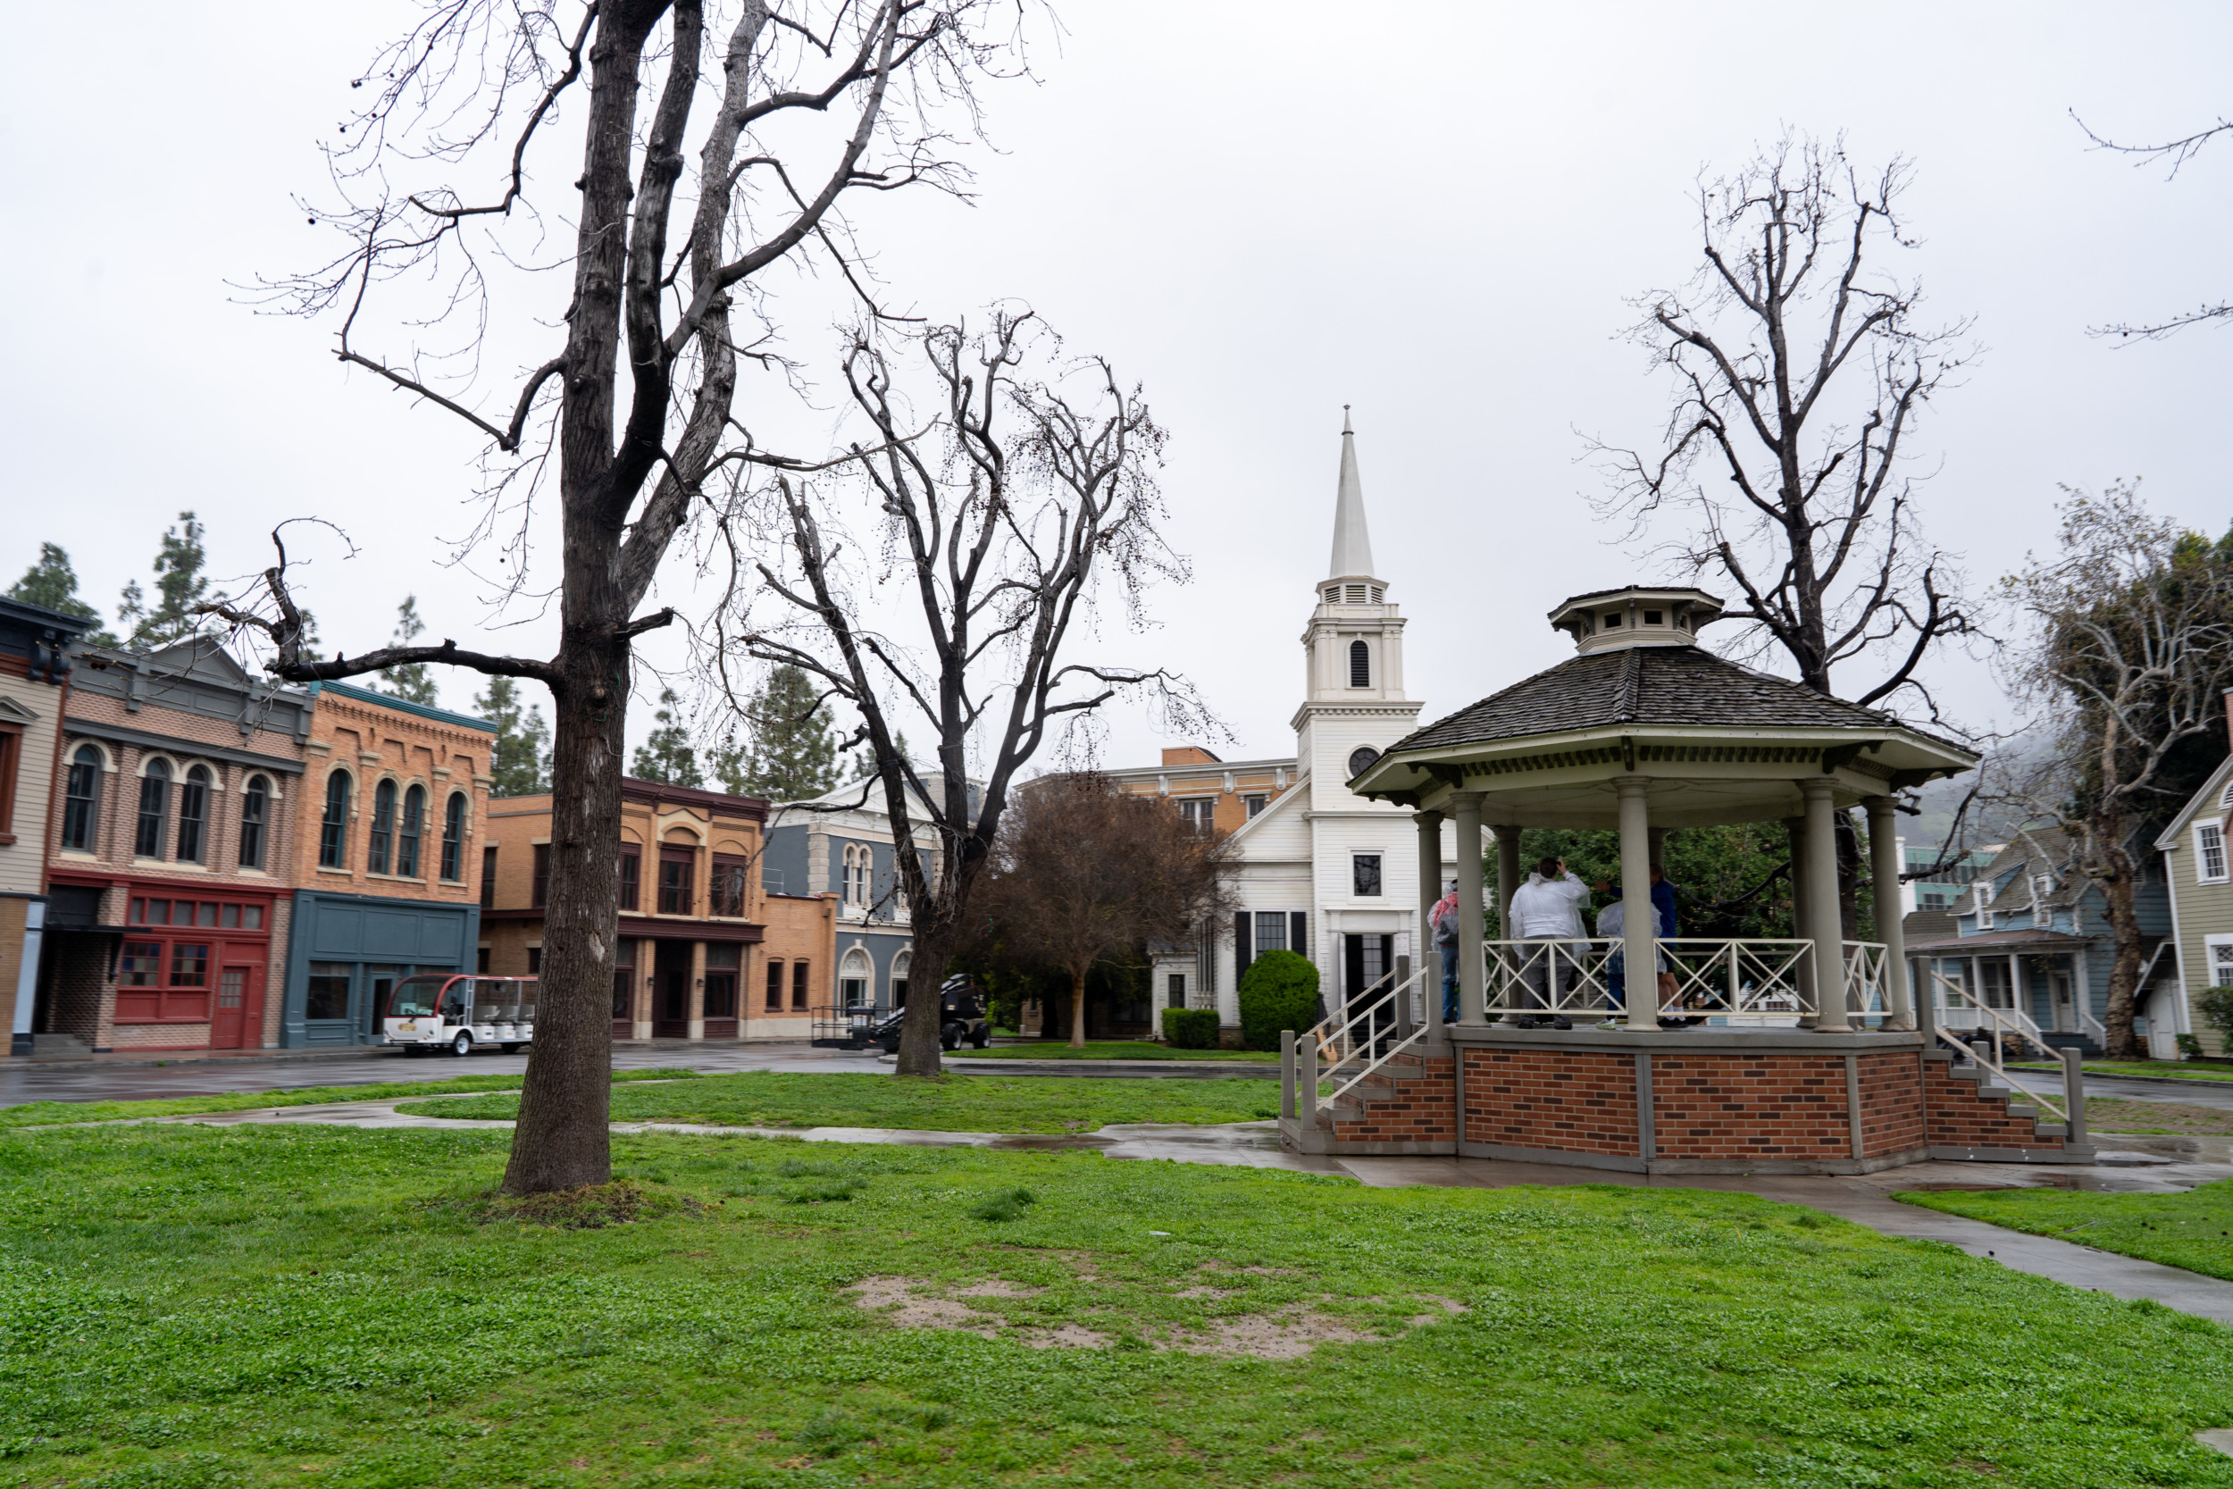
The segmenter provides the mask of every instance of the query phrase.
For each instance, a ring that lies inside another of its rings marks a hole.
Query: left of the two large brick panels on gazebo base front
[[[1635,1056],[1467,1049],[1465,1141],[1632,1159]]]

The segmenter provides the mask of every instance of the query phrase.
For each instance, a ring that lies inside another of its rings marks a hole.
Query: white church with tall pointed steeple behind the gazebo
[[[1344,417],[1333,558],[1302,630],[1295,755],[1221,761],[1181,746],[1163,750],[1161,766],[1108,772],[1119,790],[1170,797],[1190,822],[1233,835],[1239,909],[1197,944],[1157,955],[1157,1009],[1215,1007],[1221,1022],[1237,1025],[1239,973],[1268,949],[1309,955],[1333,1009],[1425,944],[1420,906],[1456,877],[1456,830],[1443,826],[1443,864],[1434,884],[1420,884],[1411,810],[1349,790],[1351,777],[1418,726],[1420,701],[1402,681],[1405,621],[1387,592],[1364,525],[1355,433]]]

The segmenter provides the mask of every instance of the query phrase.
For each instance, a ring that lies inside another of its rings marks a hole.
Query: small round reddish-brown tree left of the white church
[[[1094,772],[1032,781],[1000,828],[985,915],[1007,958],[1070,978],[1070,1045],[1085,1047],[1085,978],[1230,906],[1228,842],[1168,801],[1116,795]]]

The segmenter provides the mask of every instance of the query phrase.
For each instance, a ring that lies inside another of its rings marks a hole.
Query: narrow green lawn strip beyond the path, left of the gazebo
[[[413,1101],[404,1112],[518,1116],[518,1096]],[[1072,1080],[1047,1076],[817,1076],[746,1072],[612,1094],[621,1123],[728,1127],[916,1127],[927,1132],[1092,1132],[1108,1123],[1248,1123],[1280,1116],[1273,1080]]]

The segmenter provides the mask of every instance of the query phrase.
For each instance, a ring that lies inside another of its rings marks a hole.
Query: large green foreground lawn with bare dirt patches
[[[2233,1485],[2215,1324],[1744,1194],[645,1136],[565,1230],[502,1161],[0,1136],[7,1480]]]

